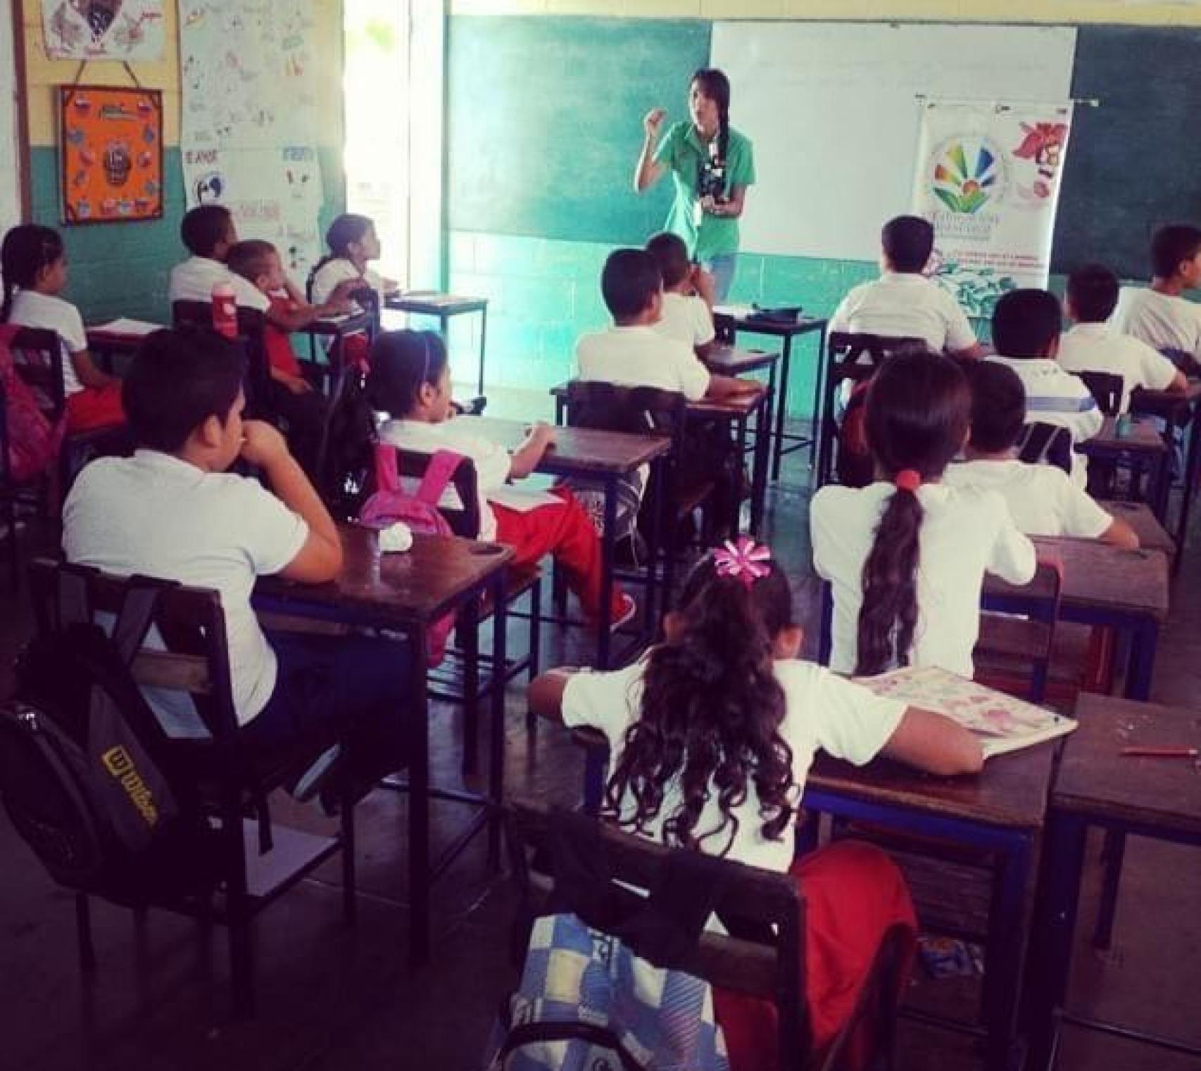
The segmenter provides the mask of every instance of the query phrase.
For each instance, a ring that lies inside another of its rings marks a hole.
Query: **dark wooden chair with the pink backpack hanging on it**
[[[432,455],[418,450],[396,449],[396,467],[401,477],[420,480],[432,460]],[[479,538],[479,495],[477,493],[476,466],[465,457],[455,471],[452,485],[459,496],[459,509],[438,507],[455,536],[464,539]],[[480,604],[467,604],[455,618],[455,639],[458,650],[447,651],[448,660],[453,657],[454,665],[440,666],[430,675],[430,694],[464,705],[464,748],[462,771],[474,773],[479,750],[479,704],[494,688],[504,688],[509,681],[516,680],[522,672],[533,680],[538,675],[539,645],[542,640],[542,570],[537,564],[515,566],[507,570],[504,578],[506,614],[512,614],[513,606],[522,596],[530,596],[530,609],[525,616],[530,623],[528,646],[525,658],[512,658],[506,665],[491,665],[491,659],[479,648],[479,627],[496,612],[490,599]],[[497,626],[500,627],[500,626]],[[480,676],[480,665],[486,672]]]

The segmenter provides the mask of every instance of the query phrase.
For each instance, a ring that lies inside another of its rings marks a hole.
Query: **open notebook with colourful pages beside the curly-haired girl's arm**
[[[1065,736],[1076,728],[1071,718],[1045,711],[984,684],[937,666],[900,669],[878,677],[856,677],[855,683],[954,718],[980,737],[984,756],[1003,755],[1045,740]]]

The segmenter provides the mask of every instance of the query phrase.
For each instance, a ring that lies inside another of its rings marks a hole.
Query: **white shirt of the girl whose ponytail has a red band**
[[[830,485],[813,496],[809,507],[813,566],[833,588],[830,668],[836,672],[855,669],[864,562],[895,492],[890,483]],[[918,627],[909,664],[937,665],[970,677],[984,574],[1028,584],[1034,576],[1034,544],[1017,531],[1005,501],[994,491],[922,484],[918,499],[925,516],[918,537]]]

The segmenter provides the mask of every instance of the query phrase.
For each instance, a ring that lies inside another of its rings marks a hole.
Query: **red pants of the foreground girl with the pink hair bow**
[[[791,873],[805,896],[805,989],[813,1045],[820,1051],[850,1016],[890,926],[909,927],[912,962],[918,917],[896,863],[871,844],[831,844],[797,860]],[[903,979],[908,973],[907,965]],[[777,1071],[776,1005],[715,988],[713,1006],[730,1071]]]

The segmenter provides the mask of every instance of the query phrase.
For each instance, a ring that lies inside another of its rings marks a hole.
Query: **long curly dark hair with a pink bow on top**
[[[620,813],[628,792],[634,813],[622,824],[646,832],[667,785],[679,779],[682,802],[663,824],[664,840],[698,848],[728,831],[718,852],[724,855],[739,830],[734,808],[753,783],[763,836],[777,839],[793,816],[793,752],[779,735],[784,693],[772,658],[772,641],[793,623],[788,578],[772,562],[770,573],[747,587],[718,575],[709,555],[685,581],[676,612],[679,634],[647,656],[641,711],[626,731],[607,806]],[[710,784],[722,824],[698,836]]]

